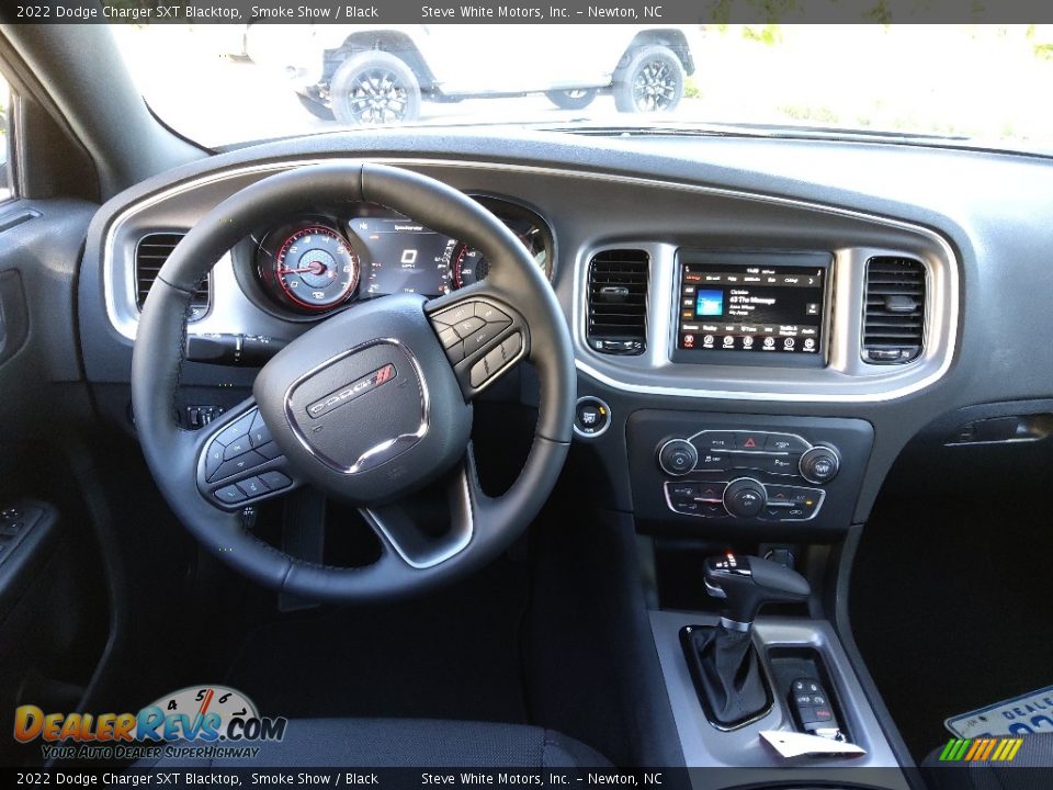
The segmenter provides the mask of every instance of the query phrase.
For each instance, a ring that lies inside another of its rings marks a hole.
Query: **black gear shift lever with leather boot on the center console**
[[[727,605],[718,625],[684,630],[683,646],[710,720],[733,727],[772,701],[751,642],[757,610],[765,603],[802,601],[811,587],[801,574],[778,563],[731,553],[705,561],[704,583],[711,596]]]

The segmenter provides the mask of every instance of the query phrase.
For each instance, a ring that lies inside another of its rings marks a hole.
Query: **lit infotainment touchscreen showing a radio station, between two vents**
[[[681,251],[678,264],[678,351],[822,358],[829,255]]]

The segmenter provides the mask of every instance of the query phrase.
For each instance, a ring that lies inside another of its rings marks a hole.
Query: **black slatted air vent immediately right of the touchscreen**
[[[912,258],[867,261],[863,360],[903,364],[921,353],[925,339],[925,267]]]

